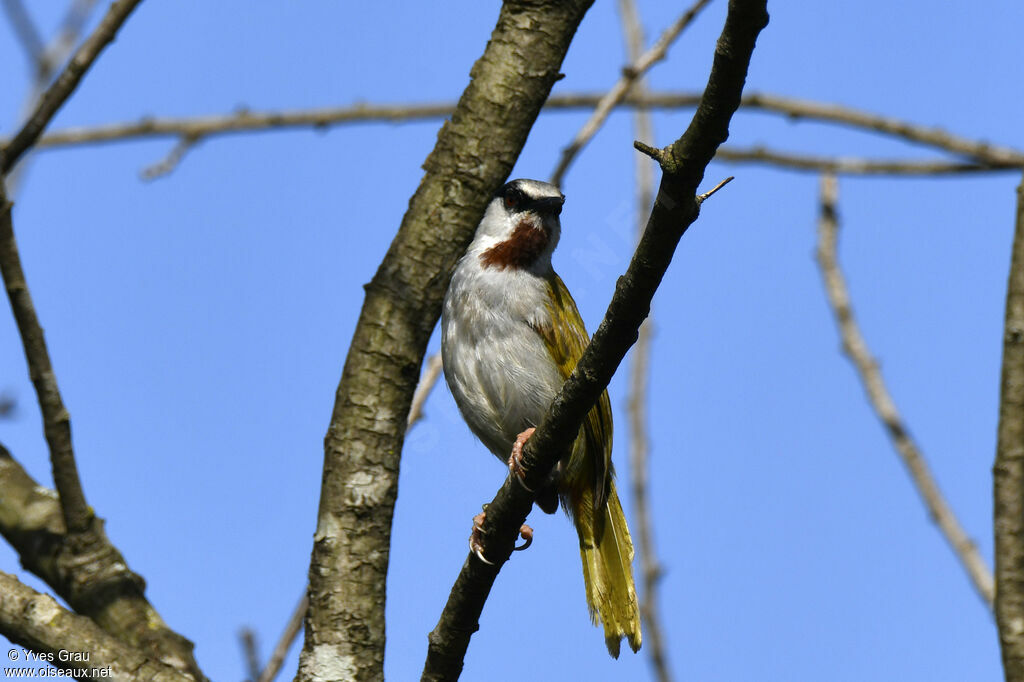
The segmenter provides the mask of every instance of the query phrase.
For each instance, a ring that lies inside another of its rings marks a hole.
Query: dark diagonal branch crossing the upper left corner
[[[118,30],[141,1],[117,0],[111,5],[96,30],[82,43],[60,75],[40,97],[29,120],[10,142],[0,150],[0,176],[6,175],[22,155],[35,144],[50,120],[78,87],[96,57],[114,40]]]

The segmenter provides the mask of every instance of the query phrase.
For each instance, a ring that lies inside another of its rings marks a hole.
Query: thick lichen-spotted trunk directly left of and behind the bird
[[[402,438],[449,276],[508,177],[590,0],[507,0],[367,297],[324,446],[300,680],[383,677]]]

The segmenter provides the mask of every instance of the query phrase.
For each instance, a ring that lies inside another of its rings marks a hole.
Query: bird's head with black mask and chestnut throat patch
[[[525,269],[551,262],[565,196],[540,180],[512,180],[498,190],[476,228],[475,251],[484,267]]]

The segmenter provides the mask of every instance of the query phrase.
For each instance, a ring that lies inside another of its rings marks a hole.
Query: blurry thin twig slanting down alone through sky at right
[[[910,436],[910,432],[900,417],[889,390],[886,388],[879,364],[860,333],[850,305],[850,294],[840,268],[837,255],[839,219],[836,205],[839,183],[835,176],[821,178],[821,217],[818,221],[817,261],[821,268],[825,293],[839,326],[843,340],[843,351],[857,370],[858,378],[864,386],[868,400],[879,420],[886,427],[896,452],[910,474],[910,480],[918,488],[928,510],[929,517],[938,525],[946,542],[949,543],[972,585],[985,604],[991,608],[994,597],[992,574],[974,542],[961,526],[956,515],[946,503],[939,489],[921,449]]]

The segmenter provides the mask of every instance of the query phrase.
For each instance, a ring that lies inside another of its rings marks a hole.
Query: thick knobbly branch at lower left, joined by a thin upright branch
[[[164,625],[144,582],[111,545],[102,521],[69,536],[57,496],[37,483],[0,445],[0,535],[32,571],[75,609],[154,660],[202,680],[193,644]]]

